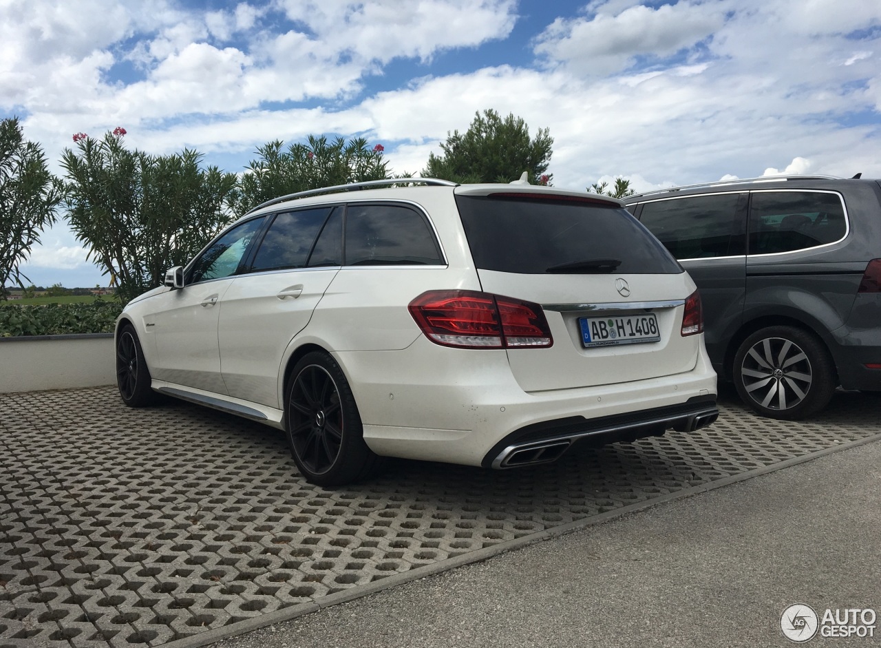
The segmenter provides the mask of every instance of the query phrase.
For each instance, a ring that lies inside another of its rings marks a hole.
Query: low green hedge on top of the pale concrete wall
[[[122,306],[121,302],[101,301],[40,306],[0,303],[0,338],[112,333]]]

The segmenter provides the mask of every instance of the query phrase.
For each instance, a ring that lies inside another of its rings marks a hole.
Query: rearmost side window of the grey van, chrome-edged
[[[753,191],[750,254],[804,250],[839,241],[847,232],[838,194],[820,191]]]

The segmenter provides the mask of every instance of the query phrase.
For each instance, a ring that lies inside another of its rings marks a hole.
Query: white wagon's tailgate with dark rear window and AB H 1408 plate
[[[549,348],[507,350],[524,391],[670,376],[693,369],[682,334],[694,284],[616,200],[529,186],[456,189],[481,287],[535,302]]]

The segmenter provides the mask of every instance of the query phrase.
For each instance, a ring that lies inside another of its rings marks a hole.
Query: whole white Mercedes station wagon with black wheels
[[[322,486],[384,457],[512,468],[716,419],[700,296],[618,200],[412,182],[280,197],[168,271],[116,326],[125,403],[284,429]]]

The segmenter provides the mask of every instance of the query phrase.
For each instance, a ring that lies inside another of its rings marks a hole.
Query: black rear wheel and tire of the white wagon
[[[364,442],[352,389],[329,354],[307,354],[294,366],[285,428],[293,460],[312,484],[342,486],[376,473],[383,463]]]

